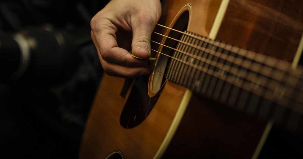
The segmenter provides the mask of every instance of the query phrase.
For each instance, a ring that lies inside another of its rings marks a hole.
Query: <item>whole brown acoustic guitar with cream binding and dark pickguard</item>
[[[104,75],[80,158],[256,158],[303,130],[303,1],[165,0],[150,76]]]

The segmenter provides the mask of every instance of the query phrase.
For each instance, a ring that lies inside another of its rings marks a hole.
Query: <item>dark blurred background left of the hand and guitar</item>
[[[76,158],[102,67],[104,0],[0,1],[0,157]]]

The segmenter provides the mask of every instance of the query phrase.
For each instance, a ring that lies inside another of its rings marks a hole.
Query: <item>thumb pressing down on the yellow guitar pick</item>
[[[139,21],[137,21],[139,22]],[[132,53],[136,57],[148,59],[151,56],[151,33],[155,26],[148,26],[148,23],[137,23],[132,26]]]

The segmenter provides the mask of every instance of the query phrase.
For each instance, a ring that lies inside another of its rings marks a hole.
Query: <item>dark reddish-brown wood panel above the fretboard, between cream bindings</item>
[[[292,62],[303,32],[303,1],[230,0],[218,40]]]

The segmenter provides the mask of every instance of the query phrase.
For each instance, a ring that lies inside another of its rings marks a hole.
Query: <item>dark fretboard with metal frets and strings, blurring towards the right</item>
[[[171,49],[169,81],[290,130],[302,129],[301,67],[189,32]]]

